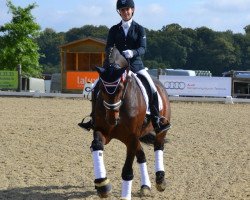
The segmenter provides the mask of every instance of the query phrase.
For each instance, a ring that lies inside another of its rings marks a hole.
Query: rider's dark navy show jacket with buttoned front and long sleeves
[[[124,50],[129,49],[133,51],[134,56],[130,59],[130,65],[134,73],[144,69],[141,56],[146,51],[146,32],[141,25],[132,21],[127,36],[125,36],[123,31],[122,22],[112,26],[108,34],[106,52],[114,46],[116,46],[121,54]]]

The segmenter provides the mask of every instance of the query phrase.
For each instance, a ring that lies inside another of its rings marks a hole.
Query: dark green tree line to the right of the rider
[[[247,70],[250,68],[249,27],[245,27],[245,35],[215,32],[207,27],[193,30],[178,24],[164,26],[159,31],[147,30],[144,58],[154,68],[160,66],[148,60],[163,63],[167,68],[209,70],[216,76],[228,70]]]

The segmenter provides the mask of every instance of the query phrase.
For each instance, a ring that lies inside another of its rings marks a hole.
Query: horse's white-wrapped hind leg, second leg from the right
[[[151,196],[151,182],[148,175],[147,162],[145,153],[139,145],[138,150],[136,152],[137,163],[140,168],[141,174],[141,191],[140,194],[142,197]]]

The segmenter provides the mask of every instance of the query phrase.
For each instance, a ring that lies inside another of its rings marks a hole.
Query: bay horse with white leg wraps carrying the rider
[[[131,199],[133,162],[136,157],[141,173],[141,196],[150,195],[151,182],[146,156],[140,138],[153,131],[147,118],[147,102],[138,85],[137,77],[129,70],[127,60],[114,47],[104,67],[96,67],[99,73],[99,93],[95,99],[93,141],[91,144],[94,164],[95,189],[101,198],[107,198],[112,190],[103,162],[104,145],[117,139],[126,145],[127,153],[122,168],[121,199]],[[170,103],[164,86],[154,79],[162,99],[161,116],[170,125]],[[158,191],[166,188],[163,150],[167,130],[158,133],[154,140],[155,182]]]

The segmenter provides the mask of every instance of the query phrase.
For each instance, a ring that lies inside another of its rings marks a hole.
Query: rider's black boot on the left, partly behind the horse
[[[82,122],[78,123],[78,126],[80,126],[81,128],[90,131],[91,129],[94,129],[94,122],[95,122],[95,102],[96,102],[96,98],[97,98],[97,94],[99,92],[99,86],[98,83],[96,84],[96,86],[94,87],[94,91],[92,92],[92,111],[90,113],[90,117],[91,119],[87,122],[84,122],[84,119],[82,120]]]

